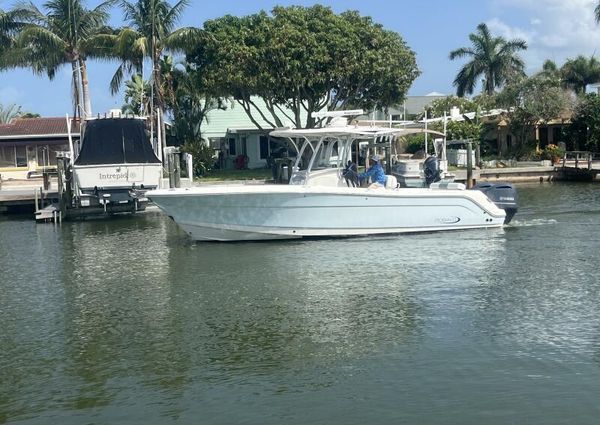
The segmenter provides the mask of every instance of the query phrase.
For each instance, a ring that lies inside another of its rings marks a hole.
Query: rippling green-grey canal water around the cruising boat
[[[0,218],[0,423],[597,424],[600,185],[520,196],[349,240]]]

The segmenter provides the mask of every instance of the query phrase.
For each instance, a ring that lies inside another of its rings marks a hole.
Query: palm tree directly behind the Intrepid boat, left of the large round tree
[[[111,91],[116,93],[125,73],[141,71],[144,59],[152,64],[152,101],[156,102],[159,115],[165,111],[165,88],[160,72],[161,59],[166,52],[186,51],[195,46],[200,30],[184,27],[175,29],[189,0],[179,0],[171,6],[165,0],[135,0],[121,3],[129,27],[123,28],[114,39],[116,56],[121,65],[111,80]],[[154,109],[154,108],[152,108]],[[151,110],[151,117],[154,113]],[[164,120],[162,123],[162,146],[166,145]]]

